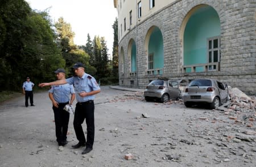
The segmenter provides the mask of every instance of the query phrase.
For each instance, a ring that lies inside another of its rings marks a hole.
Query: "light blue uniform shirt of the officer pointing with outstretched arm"
[[[86,73],[84,73],[84,75],[82,75],[81,78],[79,78],[78,76],[73,76],[71,78],[66,79],[66,81],[69,84],[74,85],[77,102],[85,102],[85,101],[95,99],[94,95],[81,97],[79,93],[92,92],[92,91],[97,91],[101,89],[100,86],[97,84],[96,79],[93,78],[93,76]]]

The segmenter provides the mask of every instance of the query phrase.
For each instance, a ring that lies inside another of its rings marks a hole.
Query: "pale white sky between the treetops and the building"
[[[117,18],[117,8],[113,0],[26,0],[33,10],[46,10],[53,22],[63,17],[71,24],[75,32],[76,45],[85,45],[89,33],[91,40],[94,36],[105,37],[109,54],[112,55],[114,30],[112,25]]]

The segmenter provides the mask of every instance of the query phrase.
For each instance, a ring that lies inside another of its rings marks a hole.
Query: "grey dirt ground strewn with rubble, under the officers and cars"
[[[101,87],[95,103],[93,151],[81,155],[73,115],[68,144],[59,148],[51,101],[35,93],[0,105],[0,166],[255,166],[255,111],[226,113],[182,101],[146,102],[142,92]],[[74,104],[75,106],[75,104]],[[230,119],[236,115],[241,122]],[[247,126],[249,123],[252,126]],[[83,124],[86,131],[86,124]],[[131,153],[131,160],[125,155]]]

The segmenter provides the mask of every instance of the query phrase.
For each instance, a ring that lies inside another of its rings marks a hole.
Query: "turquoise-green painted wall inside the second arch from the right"
[[[159,28],[155,27],[150,36],[148,43],[148,54],[154,54],[153,67],[164,67],[164,54],[163,54],[163,36]]]

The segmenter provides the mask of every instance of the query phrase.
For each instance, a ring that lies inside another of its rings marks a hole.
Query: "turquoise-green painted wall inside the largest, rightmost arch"
[[[220,18],[214,8],[201,7],[192,14],[185,27],[184,65],[208,63],[207,38],[214,36],[220,36]],[[200,71],[203,67],[196,68],[196,72]]]

